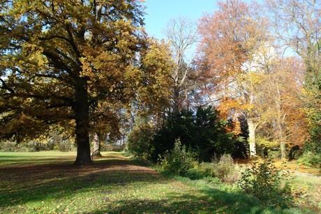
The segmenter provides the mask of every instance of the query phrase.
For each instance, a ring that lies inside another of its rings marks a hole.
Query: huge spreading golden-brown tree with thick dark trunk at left
[[[70,120],[75,164],[89,164],[91,105],[129,105],[166,85],[170,56],[147,40],[139,1],[1,1],[0,8],[1,137],[33,137]],[[144,59],[153,52],[161,52],[157,63]]]

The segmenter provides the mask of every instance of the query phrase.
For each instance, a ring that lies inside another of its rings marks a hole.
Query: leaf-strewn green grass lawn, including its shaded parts
[[[0,153],[0,213],[313,213],[276,210],[235,188],[170,178],[103,153],[75,167],[75,153]]]

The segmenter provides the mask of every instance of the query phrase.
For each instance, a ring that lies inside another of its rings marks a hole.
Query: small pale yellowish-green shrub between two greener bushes
[[[218,160],[214,158],[211,162],[212,176],[220,178],[225,183],[234,183],[239,178],[237,165],[229,154],[224,154]]]

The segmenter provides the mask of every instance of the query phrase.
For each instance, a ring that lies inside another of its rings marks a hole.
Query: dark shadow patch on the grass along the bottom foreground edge
[[[278,213],[273,208],[262,207],[259,201],[243,194],[221,190],[202,193],[202,197],[170,194],[167,195],[170,198],[168,200],[119,201],[121,206],[107,206],[92,213]]]

